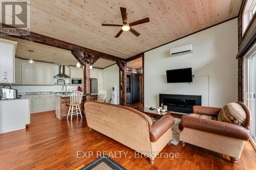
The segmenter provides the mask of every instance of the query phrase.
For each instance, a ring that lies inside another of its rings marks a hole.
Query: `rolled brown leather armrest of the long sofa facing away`
[[[157,141],[168,129],[174,125],[174,118],[170,115],[164,115],[151,126],[150,141]]]

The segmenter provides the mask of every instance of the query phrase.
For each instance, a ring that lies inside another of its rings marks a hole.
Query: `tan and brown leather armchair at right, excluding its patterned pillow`
[[[185,142],[197,145],[211,151],[230,156],[232,163],[237,163],[241,156],[244,143],[250,136],[249,109],[240,103],[246,112],[246,125],[240,126],[217,120],[198,118],[194,116],[182,116],[180,140],[184,147]],[[194,106],[193,113],[218,117],[221,108]]]

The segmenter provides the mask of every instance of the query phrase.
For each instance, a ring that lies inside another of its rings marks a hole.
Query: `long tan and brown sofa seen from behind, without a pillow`
[[[153,124],[149,116],[130,107],[90,101],[84,103],[84,110],[90,128],[145,155],[152,165],[173,138],[170,115]]]

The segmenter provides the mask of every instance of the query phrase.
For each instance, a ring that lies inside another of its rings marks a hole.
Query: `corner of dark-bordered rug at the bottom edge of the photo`
[[[93,162],[87,164],[86,166],[80,168],[80,170],[126,170],[122,165],[114,161],[113,159],[109,158],[106,155],[103,155],[100,158],[97,158]]]

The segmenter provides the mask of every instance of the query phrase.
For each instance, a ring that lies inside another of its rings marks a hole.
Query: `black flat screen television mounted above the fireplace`
[[[167,83],[192,82],[192,68],[166,70]]]

